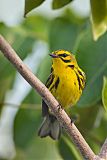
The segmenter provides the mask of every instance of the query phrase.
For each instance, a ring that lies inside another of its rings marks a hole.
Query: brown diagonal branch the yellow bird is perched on
[[[52,112],[55,114],[58,121],[62,124],[63,128],[73,140],[84,159],[94,160],[96,155],[93,153],[89,145],[84,140],[81,133],[76,126],[72,123],[67,113],[59,109],[59,103],[45,87],[45,85],[31,72],[31,70],[22,62],[12,47],[0,35],[0,50],[4,56],[14,65],[23,78],[41,95],[44,101],[50,106]]]

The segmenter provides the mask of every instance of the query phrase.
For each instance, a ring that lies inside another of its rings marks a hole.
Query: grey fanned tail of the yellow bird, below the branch
[[[61,126],[56,117],[52,114],[48,114],[44,117],[44,120],[38,131],[38,135],[43,138],[50,136],[52,139],[59,139],[61,134]]]

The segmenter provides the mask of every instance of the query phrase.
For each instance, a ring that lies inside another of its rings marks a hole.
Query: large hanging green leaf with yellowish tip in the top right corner
[[[107,1],[90,0],[92,13],[92,28],[94,40],[97,40],[107,30]]]

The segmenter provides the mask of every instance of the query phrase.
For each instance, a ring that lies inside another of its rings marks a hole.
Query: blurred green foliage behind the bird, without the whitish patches
[[[49,52],[65,49],[76,55],[79,65],[86,73],[87,81],[80,101],[74,108],[69,109],[69,114],[77,115],[75,124],[93,151],[98,153],[107,136],[107,113],[101,101],[102,96],[104,98],[104,94],[107,93],[106,88],[105,92],[102,92],[103,77],[107,76],[107,33],[95,42],[89,19],[77,17],[72,12],[67,13],[68,11],[52,20],[43,16],[29,16],[17,27],[7,27],[1,23],[0,33],[10,42],[21,59],[32,52],[34,44],[39,40],[48,44]],[[51,66],[48,53],[39,64],[36,73],[44,83]],[[6,92],[12,88],[16,75],[16,70],[2,54],[0,54],[0,75],[2,103]],[[20,105],[14,123],[17,150],[15,160],[81,160],[80,153],[64,132],[57,142],[49,137],[40,139],[37,136],[42,121],[40,103],[40,96],[32,89]],[[22,107],[23,104],[25,108]]]

